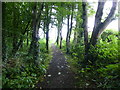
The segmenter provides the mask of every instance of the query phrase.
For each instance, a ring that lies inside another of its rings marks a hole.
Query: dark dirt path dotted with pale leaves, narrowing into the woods
[[[43,82],[38,88],[75,88],[75,74],[70,70],[64,54],[52,44],[53,58]]]

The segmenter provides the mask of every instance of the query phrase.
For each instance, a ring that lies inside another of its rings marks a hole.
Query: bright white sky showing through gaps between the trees
[[[89,3],[93,9],[96,11],[97,10],[97,5],[98,3],[92,3],[90,2]],[[112,1],[107,1],[105,3],[105,7],[104,7],[104,10],[103,10],[103,18],[107,16],[107,14],[110,12],[110,8],[112,6]],[[117,10],[116,10],[117,12]],[[92,15],[90,17],[88,17],[88,32],[92,32],[93,30],[93,27],[94,27],[94,19],[95,19],[95,15]],[[75,26],[75,21],[73,21],[73,26]],[[118,31],[118,19],[112,21],[106,29],[113,29],[115,31]],[[40,29],[40,37],[42,38],[43,35],[42,35],[42,30]],[[62,27],[62,36],[63,36],[63,39],[66,38],[66,35],[67,35],[67,20],[65,20],[65,24],[63,25]],[[50,25],[50,31],[49,31],[49,37],[50,37],[50,40],[52,40],[53,42],[56,41],[56,37],[57,37],[57,28],[55,26],[52,26]]]

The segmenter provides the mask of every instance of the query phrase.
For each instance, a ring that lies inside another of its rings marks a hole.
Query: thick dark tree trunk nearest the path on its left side
[[[37,2],[33,5],[33,31],[32,31],[32,41],[30,44],[29,54],[33,56],[34,63],[37,64],[38,54],[39,54],[39,45],[38,45],[38,30],[41,21],[41,12],[43,10],[44,3],[40,3],[39,13],[37,13]]]

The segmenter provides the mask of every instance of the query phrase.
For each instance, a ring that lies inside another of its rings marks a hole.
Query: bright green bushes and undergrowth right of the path
[[[106,31],[104,40],[99,39],[96,47],[91,46],[89,55],[92,59],[85,67],[84,49],[82,45],[74,45],[71,48],[72,70],[77,74],[75,77],[78,82],[76,85],[80,88],[119,88],[120,87],[120,53],[118,52],[117,33]],[[110,41],[107,41],[107,38]],[[71,44],[72,45],[72,44]],[[82,55],[82,56],[81,56]],[[83,67],[84,66],[84,67]]]

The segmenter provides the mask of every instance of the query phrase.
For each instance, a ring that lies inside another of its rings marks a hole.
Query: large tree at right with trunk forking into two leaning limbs
[[[116,6],[117,6],[117,2],[113,1],[113,5],[112,8],[110,10],[110,13],[108,14],[108,16],[106,17],[106,19],[102,22],[102,16],[103,16],[103,9],[104,9],[104,5],[105,2],[98,2],[98,8],[97,8],[97,12],[95,15],[95,24],[94,24],[94,28],[93,28],[93,32],[92,32],[92,36],[90,38],[90,42],[88,44],[88,55],[87,55],[87,61],[90,60],[92,62],[95,62],[95,58],[93,58],[93,55],[89,54],[90,51],[90,46],[96,46],[97,44],[97,40],[100,37],[100,35],[102,34],[102,32],[105,30],[105,28],[109,25],[110,22],[112,22],[112,20],[114,20],[114,14],[115,14],[115,10],[116,10]]]

